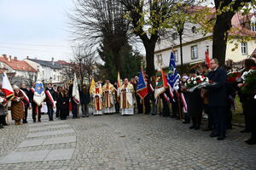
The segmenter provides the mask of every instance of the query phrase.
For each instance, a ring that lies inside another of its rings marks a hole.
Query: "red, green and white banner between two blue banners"
[[[156,86],[154,89],[154,98],[156,99],[160,94],[164,93],[166,91],[167,81],[166,81],[166,75],[164,71],[159,67],[159,70],[156,73]]]

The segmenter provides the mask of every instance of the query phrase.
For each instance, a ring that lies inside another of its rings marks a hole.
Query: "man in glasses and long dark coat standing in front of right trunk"
[[[211,137],[217,137],[223,140],[226,133],[226,108],[227,108],[227,91],[225,82],[227,73],[224,69],[218,67],[218,59],[211,59],[208,78],[211,85],[206,88],[209,90],[209,106],[213,117],[214,129],[210,134]]]

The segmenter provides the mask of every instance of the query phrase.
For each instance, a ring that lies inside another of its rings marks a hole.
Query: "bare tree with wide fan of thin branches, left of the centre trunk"
[[[92,51],[110,49],[117,71],[122,68],[119,51],[131,38],[130,21],[125,19],[125,8],[118,0],[76,0],[70,14],[74,40]],[[105,56],[101,59],[106,62]]]

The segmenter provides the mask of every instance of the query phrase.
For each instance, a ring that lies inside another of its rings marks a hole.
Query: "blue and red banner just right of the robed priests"
[[[136,92],[141,97],[141,99],[144,99],[145,96],[148,94],[147,82],[144,78],[143,68],[140,71]]]

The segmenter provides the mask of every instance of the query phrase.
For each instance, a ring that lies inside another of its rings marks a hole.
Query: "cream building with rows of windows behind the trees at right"
[[[232,19],[232,26],[237,27],[237,25],[243,25],[239,19],[241,19],[241,15],[235,14]],[[245,27],[245,32],[254,35],[254,38],[249,41],[241,42],[241,38],[244,35],[239,35],[237,32],[230,33],[232,38],[227,43],[226,60],[232,59],[234,62],[237,62],[242,59],[247,59],[256,48],[255,16],[252,16],[247,22],[251,23],[251,25]],[[154,49],[155,68],[157,68],[157,65],[160,65],[162,68],[168,67],[172,48],[177,65],[181,65],[179,37],[175,31],[170,31],[168,36],[161,40]],[[200,25],[185,23],[183,29],[183,65],[203,63],[206,59],[207,49],[209,57],[212,58],[212,33],[203,35],[200,31]]]

